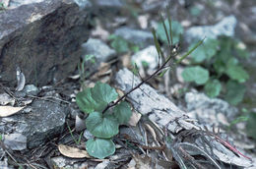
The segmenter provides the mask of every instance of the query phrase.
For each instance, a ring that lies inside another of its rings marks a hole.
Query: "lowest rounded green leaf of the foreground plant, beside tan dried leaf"
[[[86,142],[87,151],[91,156],[103,159],[115,151],[114,142],[104,139],[91,139]]]

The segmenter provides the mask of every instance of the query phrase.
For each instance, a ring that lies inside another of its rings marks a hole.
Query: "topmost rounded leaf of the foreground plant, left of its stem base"
[[[117,99],[118,94],[114,88],[108,84],[96,83],[91,89],[92,97],[96,101],[95,110],[101,112],[109,102]]]

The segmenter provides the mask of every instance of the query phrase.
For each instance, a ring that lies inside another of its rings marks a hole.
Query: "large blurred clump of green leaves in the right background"
[[[244,83],[249,79],[239,59],[248,56],[245,45],[239,40],[226,36],[207,38],[191,53],[192,64],[184,69],[182,77],[185,82],[204,85],[210,97],[219,96],[223,91],[225,100],[236,105],[243,100]]]

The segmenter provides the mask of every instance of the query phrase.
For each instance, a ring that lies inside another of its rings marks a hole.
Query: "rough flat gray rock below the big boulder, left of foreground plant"
[[[27,106],[29,107],[29,106]],[[58,103],[35,100],[30,113],[18,113],[0,119],[0,133],[13,131],[27,137],[28,147],[36,147],[62,133],[68,108]]]

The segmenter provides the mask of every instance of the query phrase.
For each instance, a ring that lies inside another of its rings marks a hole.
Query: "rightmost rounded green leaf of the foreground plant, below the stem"
[[[126,101],[122,101],[116,105],[113,112],[120,125],[128,123],[132,115],[131,107]]]

